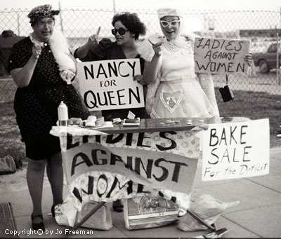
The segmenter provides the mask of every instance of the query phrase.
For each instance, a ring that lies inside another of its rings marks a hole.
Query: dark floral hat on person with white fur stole
[[[49,4],[37,6],[27,15],[30,18],[30,23],[38,22],[42,18],[53,18],[54,15],[58,15],[59,10],[52,10],[52,6]]]

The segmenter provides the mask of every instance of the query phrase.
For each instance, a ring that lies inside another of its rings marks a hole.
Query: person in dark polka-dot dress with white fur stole
[[[18,86],[14,109],[28,158],[34,230],[45,228],[41,210],[45,167],[53,194],[53,217],[55,205],[63,203],[60,141],[49,133],[58,121],[58,105],[62,101],[67,105],[69,117],[86,119],[90,115],[70,83],[76,61],[63,34],[54,29],[54,16],[58,14],[51,5],[33,8],[28,15],[33,32],[15,43],[8,61],[8,70]]]

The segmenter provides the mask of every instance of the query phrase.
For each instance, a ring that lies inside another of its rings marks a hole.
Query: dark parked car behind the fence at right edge
[[[279,67],[281,66],[281,48],[278,49]],[[266,52],[252,53],[254,65],[259,67],[261,73],[268,73],[277,66],[277,43],[271,43]],[[279,68],[278,67],[278,68]]]

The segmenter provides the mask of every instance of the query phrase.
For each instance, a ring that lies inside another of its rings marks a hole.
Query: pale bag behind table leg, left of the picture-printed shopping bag
[[[83,205],[80,212],[77,213],[77,218],[75,224],[79,223],[94,207],[98,205],[97,202],[90,201]],[[112,218],[110,207],[103,205],[98,211],[96,211],[89,219],[87,219],[81,227],[98,229],[103,231],[108,231],[112,228]]]

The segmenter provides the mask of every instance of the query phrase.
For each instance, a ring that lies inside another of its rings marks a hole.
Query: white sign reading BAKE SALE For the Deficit
[[[202,181],[269,173],[268,119],[209,125],[202,141]]]

